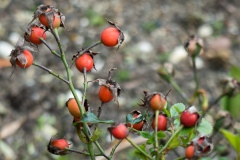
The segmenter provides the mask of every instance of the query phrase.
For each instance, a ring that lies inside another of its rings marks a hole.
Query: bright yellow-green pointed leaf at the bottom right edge
[[[229,141],[229,143],[232,145],[232,147],[235,149],[237,154],[240,153],[240,135],[235,135],[225,129],[220,130],[224,137]]]

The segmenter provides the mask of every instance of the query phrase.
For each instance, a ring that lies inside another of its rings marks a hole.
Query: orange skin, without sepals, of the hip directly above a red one
[[[150,106],[151,108],[156,111],[156,110],[163,110],[164,106],[166,105],[166,99],[163,98],[160,94],[155,94],[151,100],[150,100]]]

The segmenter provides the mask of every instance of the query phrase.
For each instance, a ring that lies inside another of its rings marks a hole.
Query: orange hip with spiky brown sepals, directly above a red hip
[[[139,104],[142,107],[150,107],[152,110],[163,110],[163,108],[167,105],[167,93],[166,95],[160,92],[148,93],[147,91],[143,91],[144,99],[143,104]]]

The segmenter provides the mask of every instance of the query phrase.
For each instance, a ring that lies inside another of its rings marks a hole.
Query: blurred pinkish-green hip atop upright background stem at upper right
[[[196,35],[191,35],[185,43],[184,48],[191,57],[196,57],[203,54],[203,40]]]

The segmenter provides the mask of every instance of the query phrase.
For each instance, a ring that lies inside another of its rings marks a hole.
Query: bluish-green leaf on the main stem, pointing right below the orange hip
[[[91,112],[86,112],[84,115],[83,115],[83,118],[80,122],[86,122],[86,123],[91,123],[91,124],[94,124],[94,123],[105,123],[105,124],[113,124],[114,121],[112,120],[100,120],[98,119],[98,117],[91,113]]]

